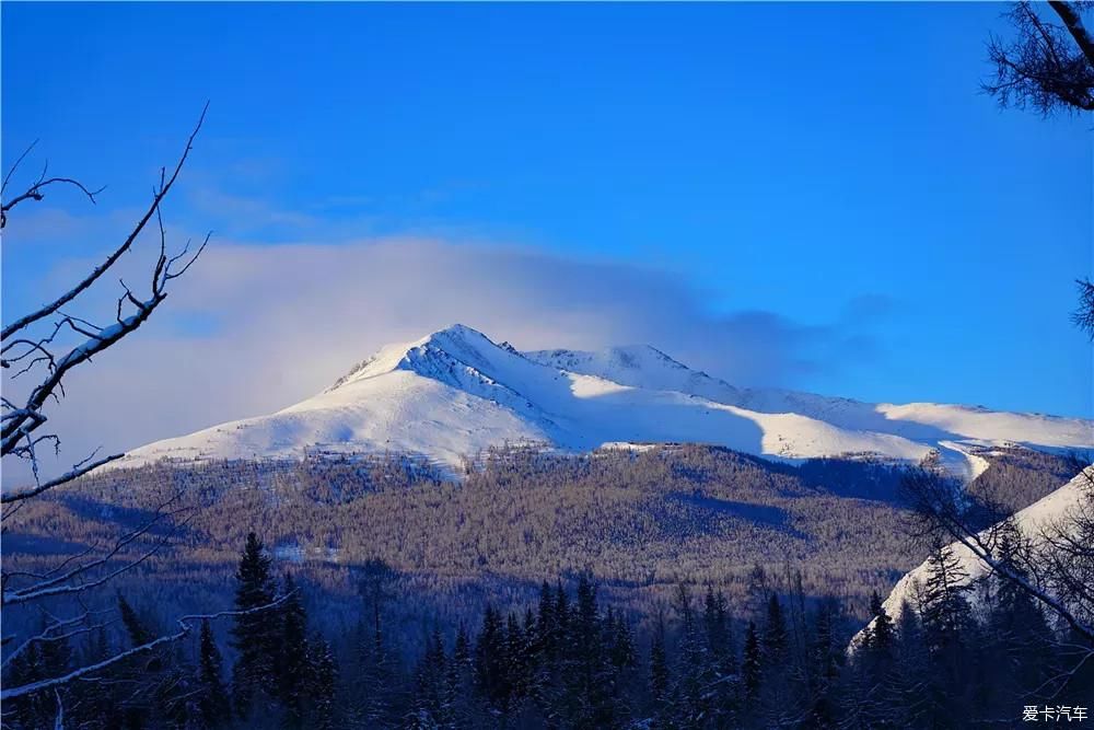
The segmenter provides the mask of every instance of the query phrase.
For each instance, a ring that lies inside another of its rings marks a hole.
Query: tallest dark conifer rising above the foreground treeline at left
[[[261,611],[274,602],[270,579],[272,560],[255,533],[247,543],[235,573],[235,616],[232,647],[238,652],[232,671],[232,699],[241,717],[254,709],[256,700],[276,692],[277,622],[272,612]]]

